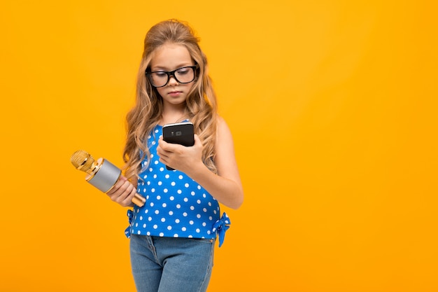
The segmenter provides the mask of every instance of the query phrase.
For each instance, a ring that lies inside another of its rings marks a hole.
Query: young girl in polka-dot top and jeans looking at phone
[[[216,237],[237,209],[243,189],[232,134],[216,112],[206,56],[192,29],[178,20],[146,34],[136,104],[127,114],[125,176],[108,192],[129,209],[132,273],[138,291],[206,291]],[[195,145],[169,144],[162,126],[190,121]],[[176,170],[167,170],[166,165]],[[136,193],[146,204],[132,204]]]

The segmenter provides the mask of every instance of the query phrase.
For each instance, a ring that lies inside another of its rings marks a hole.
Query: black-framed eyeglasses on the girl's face
[[[150,84],[155,88],[162,88],[169,83],[170,77],[174,76],[175,80],[178,83],[190,83],[195,80],[195,69],[196,66],[187,66],[181,67],[174,71],[153,71],[148,72],[145,71],[146,76],[148,77]],[[147,70],[147,69],[146,69]]]

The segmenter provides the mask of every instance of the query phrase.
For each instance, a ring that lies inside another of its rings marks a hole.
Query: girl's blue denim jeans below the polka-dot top
[[[131,235],[131,265],[137,291],[206,291],[215,240]]]

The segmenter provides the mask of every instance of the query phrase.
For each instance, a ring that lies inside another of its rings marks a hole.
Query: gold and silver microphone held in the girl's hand
[[[86,172],[85,180],[91,183],[104,193],[113,188],[115,182],[119,179],[122,171],[104,158],[99,158],[96,162],[87,151],[78,150],[71,155],[71,164],[78,170]],[[146,203],[146,198],[135,194],[132,202],[139,207]]]

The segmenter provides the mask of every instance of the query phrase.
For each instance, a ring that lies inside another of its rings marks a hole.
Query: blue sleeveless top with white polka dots
[[[218,201],[202,186],[178,170],[167,170],[157,155],[162,126],[148,136],[150,155],[141,162],[137,193],[146,198],[143,207],[128,210],[125,234],[157,237],[214,239],[222,245],[229,228],[227,214],[220,216]],[[148,159],[150,163],[147,165]]]

